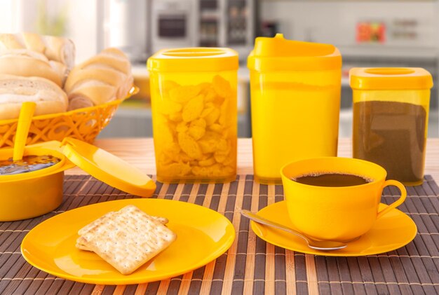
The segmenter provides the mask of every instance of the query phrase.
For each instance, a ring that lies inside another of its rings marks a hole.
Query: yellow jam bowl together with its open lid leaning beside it
[[[46,214],[62,203],[64,171],[77,165],[100,181],[133,195],[150,197],[156,184],[147,174],[86,142],[66,137],[25,147],[24,156],[50,155],[60,162],[41,170],[0,175],[0,221],[28,219]],[[0,149],[0,160],[13,149]]]

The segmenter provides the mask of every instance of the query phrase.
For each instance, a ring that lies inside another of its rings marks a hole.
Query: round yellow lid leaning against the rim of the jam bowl
[[[147,174],[97,146],[69,137],[62,146],[62,153],[72,163],[109,186],[142,197],[150,197],[156,190]]]

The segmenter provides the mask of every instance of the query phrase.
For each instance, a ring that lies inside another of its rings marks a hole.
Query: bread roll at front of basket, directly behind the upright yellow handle
[[[34,116],[67,111],[67,95],[39,77],[0,74],[0,120],[18,118],[23,102],[35,102]]]

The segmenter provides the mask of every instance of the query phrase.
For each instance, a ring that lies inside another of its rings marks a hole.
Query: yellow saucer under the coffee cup
[[[381,210],[382,207],[386,206],[381,203],[379,209]],[[276,221],[278,224],[294,228],[288,218],[285,201],[264,207],[257,214],[266,219]],[[302,238],[298,238],[285,231],[259,225],[254,221],[251,221],[251,226],[259,238],[273,245],[296,252],[325,256],[364,256],[389,252],[407,245],[414,239],[417,233],[414,221],[407,214],[396,209],[377,219],[370,231],[362,235],[358,240],[349,242],[348,247],[332,251],[311,249]]]

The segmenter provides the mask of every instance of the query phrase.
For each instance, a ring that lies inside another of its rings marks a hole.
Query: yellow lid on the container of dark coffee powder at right
[[[358,90],[416,90],[433,87],[431,74],[417,67],[352,68],[349,80],[351,88]]]

